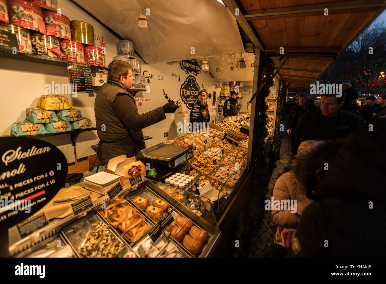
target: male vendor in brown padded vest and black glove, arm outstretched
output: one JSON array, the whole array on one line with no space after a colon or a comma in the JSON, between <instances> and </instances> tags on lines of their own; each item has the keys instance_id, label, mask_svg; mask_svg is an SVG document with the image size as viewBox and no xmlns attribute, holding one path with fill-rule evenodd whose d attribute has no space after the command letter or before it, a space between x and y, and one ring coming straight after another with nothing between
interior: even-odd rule
<instances>
[{"instance_id":1,"label":"male vendor in brown padded vest and black glove, arm outstretched","mask_svg":"<svg viewBox=\"0 0 386 284\"><path fill-rule=\"evenodd\" d=\"M166 113L174 113L182 102L172 100L162 107L139 114L132 91L132 66L126 61L114 60L108 65L107 82L95 97L95 120L100 139L98 158L101 163L126 154L137 155L146 148L142 128L160 122Z\"/></svg>"}]
</instances>

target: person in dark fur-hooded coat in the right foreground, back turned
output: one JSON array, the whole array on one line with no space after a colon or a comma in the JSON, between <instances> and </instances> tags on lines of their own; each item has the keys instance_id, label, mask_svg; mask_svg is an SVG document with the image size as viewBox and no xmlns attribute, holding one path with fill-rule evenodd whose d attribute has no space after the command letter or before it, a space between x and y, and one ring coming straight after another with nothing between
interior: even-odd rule
<instances>
[{"instance_id":1,"label":"person in dark fur-hooded coat in the right foreground, back turned","mask_svg":"<svg viewBox=\"0 0 386 284\"><path fill-rule=\"evenodd\" d=\"M308 172L305 177L313 182L306 195L314 202L303 211L288 257L386 254L386 160L380 155L385 144L386 117L369 119L325 160L328 170L314 167ZM371 186L364 168L372 173ZM296 178L302 169L295 172Z\"/></svg>"}]
</instances>

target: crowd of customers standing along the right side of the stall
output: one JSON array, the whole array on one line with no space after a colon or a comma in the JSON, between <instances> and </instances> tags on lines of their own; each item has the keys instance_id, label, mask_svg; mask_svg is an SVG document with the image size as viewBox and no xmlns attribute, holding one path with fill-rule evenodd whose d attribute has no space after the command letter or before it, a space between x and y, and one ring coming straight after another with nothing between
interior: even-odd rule
<instances>
[{"instance_id":1,"label":"crowd of customers standing along the right side of the stall","mask_svg":"<svg viewBox=\"0 0 386 284\"><path fill-rule=\"evenodd\" d=\"M273 200L278 225L266 257L376 257L386 252L383 157L386 95L357 104L357 91L320 102L302 92L286 107L292 138L288 170L276 181ZM293 204L291 203L291 204Z\"/></svg>"}]
</instances>

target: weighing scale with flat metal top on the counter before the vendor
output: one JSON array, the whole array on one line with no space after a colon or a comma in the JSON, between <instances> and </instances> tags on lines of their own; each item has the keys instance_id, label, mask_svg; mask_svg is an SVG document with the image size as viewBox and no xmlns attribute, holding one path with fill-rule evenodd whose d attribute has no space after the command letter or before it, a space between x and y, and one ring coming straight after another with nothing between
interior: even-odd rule
<instances>
[{"instance_id":1,"label":"weighing scale with flat metal top on the counter before the vendor","mask_svg":"<svg viewBox=\"0 0 386 284\"><path fill-rule=\"evenodd\" d=\"M184 147L162 142L150 148L142 149L135 158L141 160L145 165L150 163L150 168L155 168L157 175L147 176L148 179L163 182L165 178L175 172L188 173L189 167L186 162L193 158L193 145ZM147 172L148 169L146 174Z\"/></svg>"}]
</instances>

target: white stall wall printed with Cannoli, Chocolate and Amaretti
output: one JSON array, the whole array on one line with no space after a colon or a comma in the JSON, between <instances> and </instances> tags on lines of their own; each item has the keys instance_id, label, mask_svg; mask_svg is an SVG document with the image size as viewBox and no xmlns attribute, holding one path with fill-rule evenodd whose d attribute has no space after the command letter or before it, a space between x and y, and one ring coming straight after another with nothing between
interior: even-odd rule
<instances>
[{"instance_id":1,"label":"white stall wall printed with Cannoli, Chocolate and Amaretti","mask_svg":"<svg viewBox=\"0 0 386 284\"><path fill-rule=\"evenodd\" d=\"M58 7L61 9L62 14L68 16L70 20L82 20L93 25L95 46L106 46L105 59L107 66L108 63L112 61L113 56L118 54L117 44L119 39L68 0L58 0ZM142 73L144 73L145 76L150 76L148 78L150 81L146 83L146 85L150 86L150 92L139 92L135 96L136 100L138 100L137 107L139 113L144 113L166 104L167 100L164 99L162 89L165 89L165 92L172 99L179 99L180 87L188 75L185 71L181 70L178 62L151 65L144 65L143 61L141 63ZM178 77L176 77L177 75ZM178 78L181 78L181 81L179 81ZM15 121L25 119L25 110L29 107L36 107L39 96L45 94L46 84L51 84L52 81L55 84L69 83L68 73L65 67L15 60L12 59L12 54L10 54L10 58L1 59L0 80L2 87L0 98L2 105L2 112L0 112L0 135L9 135L12 124ZM217 92L217 102L215 107L213 107L216 111L210 111L211 120L215 120L221 91L221 88L215 90L215 83L221 82L216 82L206 73L199 74L196 80L200 88L202 88L201 84L203 83L208 92L212 94L213 91ZM62 95L69 99L72 107L81 110L82 116L90 118L91 123L95 126L95 93L78 93L77 97L74 98L71 97L71 95ZM141 102L140 99L147 100ZM141 103L141 105L139 103ZM208 99L208 104L209 109L211 109L212 99ZM144 135L153 137L153 139L146 141L146 146L156 145L157 143L166 141L166 139L172 139L178 136L177 123L183 122L184 119L189 121L189 114L190 110L183 104L176 113L166 114L164 121L145 128L143 130ZM168 138L164 138L165 132L168 132ZM41 139L56 145L63 151L68 163L74 162L74 148L71 144L69 134ZM91 149L91 145L97 144L98 141L96 131L81 133L76 141L77 158L95 154Z\"/></svg>"}]
</instances>

